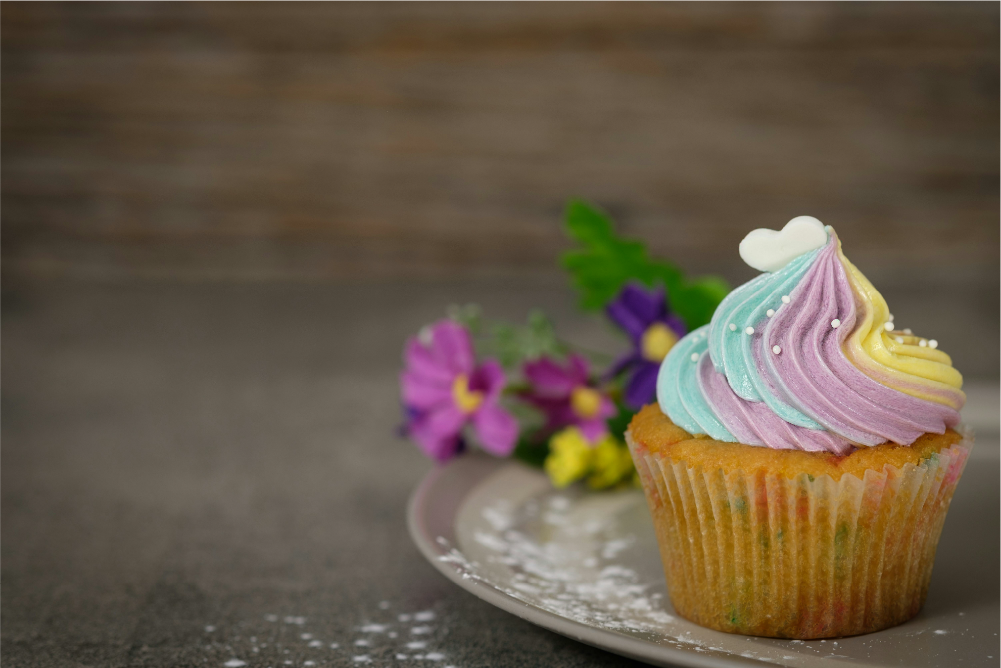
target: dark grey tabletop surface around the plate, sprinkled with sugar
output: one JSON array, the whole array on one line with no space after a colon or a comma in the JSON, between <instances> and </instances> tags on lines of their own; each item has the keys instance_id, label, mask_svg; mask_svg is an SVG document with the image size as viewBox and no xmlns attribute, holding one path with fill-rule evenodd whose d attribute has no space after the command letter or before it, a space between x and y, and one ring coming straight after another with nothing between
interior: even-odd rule
<instances>
[{"instance_id":1,"label":"dark grey tabletop surface around the plate, sprinkled with sugar","mask_svg":"<svg viewBox=\"0 0 1001 668\"><path fill-rule=\"evenodd\" d=\"M558 288L8 284L0 666L398 665L397 651L440 652L441 667L638 665L492 608L410 543L405 502L431 465L394 436L401 344L473 298L496 316L544 306L576 342L614 343ZM993 513L989 531L990 461L978 475L994 486L956 501ZM996 546L987 533L969 555L985 591ZM398 621L417 611L434 619Z\"/></svg>"}]
</instances>

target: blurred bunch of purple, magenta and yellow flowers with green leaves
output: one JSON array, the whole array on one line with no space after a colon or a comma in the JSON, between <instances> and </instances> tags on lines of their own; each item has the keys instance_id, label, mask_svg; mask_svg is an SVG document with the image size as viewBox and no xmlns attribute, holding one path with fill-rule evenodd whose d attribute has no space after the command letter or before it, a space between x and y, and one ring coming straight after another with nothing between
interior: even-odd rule
<instances>
[{"instance_id":1,"label":"blurred bunch of purple, magenta and yellow flowers with green leaves","mask_svg":"<svg viewBox=\"0 0 1001 668\"><path fill-rule=\"evenodd\" d=\"M604 311L629 350L598 369L604 356L560 339L540 311L514 325L484 321L474 304L452 306L406 342L400 432L435 460L475 446L544 468L556 487L636 484L626 428L654 401L668 352L709 322L729 286L716 276L686 279L583 201L570 202L565 225L580 247L561 264L581 307Z\"/></svg>"}]
</instances>

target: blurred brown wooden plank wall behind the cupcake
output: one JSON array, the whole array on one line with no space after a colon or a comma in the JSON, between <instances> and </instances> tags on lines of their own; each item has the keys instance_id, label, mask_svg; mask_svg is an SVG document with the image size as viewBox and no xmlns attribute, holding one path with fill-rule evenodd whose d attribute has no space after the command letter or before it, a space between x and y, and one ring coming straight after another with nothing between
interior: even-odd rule
<instances>
[{"instance_id":1,"label":"blurred brown wooden plank wall behind the cupcake","mask_svg":"<svg viewBox=\"0 0 1001 668\"><path fill-rule=\"evenodd\" d=\"M998 14L4 3L0 267L555 281L582 196L734 281L749 229L813 214L881 287L993 314Z\"/></svg>"}]
</instances>

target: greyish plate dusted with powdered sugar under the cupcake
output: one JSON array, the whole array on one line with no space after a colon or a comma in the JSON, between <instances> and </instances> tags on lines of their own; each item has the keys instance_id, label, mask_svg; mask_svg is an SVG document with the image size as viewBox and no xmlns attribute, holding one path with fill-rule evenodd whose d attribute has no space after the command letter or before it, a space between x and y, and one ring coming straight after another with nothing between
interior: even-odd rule
<instances>
[{"instance_id":1,"label":"greyish plate dusted with powdered sugar under the cupcake","mask_svg":"<svg viewBox=\"0 0 1001 668\"><path fill-rule=\"evenodd\" d=\"M997 459L974 459L985 445L974 450L957 491L957 501L967 493L976 503L953 503L943 532L953 549L940 544L922 612L892 629L836 641L732 635L675 615L638 490L555 491L522 464L467 455L428 474L410 498L407 520L423 555L463 589L557 633L659 666L997 666L996 547L971 562L954 545L981 552L997 545ZM982 469L971 475L985 464L986 478ZM986 520L976 513L982 498L993 504ZM989 591L962 581L983 577L970 572L983 560L993 577L984 583Z\"/></svg>"}]
</instances>

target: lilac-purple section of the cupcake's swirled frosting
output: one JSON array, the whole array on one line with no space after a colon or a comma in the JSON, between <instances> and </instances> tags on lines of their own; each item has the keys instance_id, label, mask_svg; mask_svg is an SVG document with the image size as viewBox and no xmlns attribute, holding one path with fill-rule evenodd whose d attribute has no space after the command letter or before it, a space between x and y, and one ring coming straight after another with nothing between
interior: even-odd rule
<instances>
[{"instance_id":1,"label":"lilac-purple section of the cupcake's swirled frosting","mask_svg":"<svg viewBox=\"0 0 1001 668\"><path fill-rule=\"evenodd\" d=\"M703 356L696 371L699 390L738 441L847 454L855 444L909 445L922 434L942 434L959 423L955 409L882 385L845 356L842 345L855 326L857 305L833 231L789 296L772 317L753 324L754 367L773 397L825 429L792 425L765 403L742 399L710 356ZM841 320L838 327L831 324L835 318ZM773 351L776 346L779 353Z\"/></svg>"}]
</instances>

